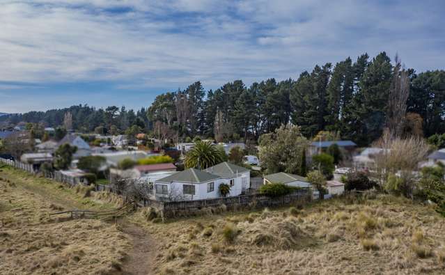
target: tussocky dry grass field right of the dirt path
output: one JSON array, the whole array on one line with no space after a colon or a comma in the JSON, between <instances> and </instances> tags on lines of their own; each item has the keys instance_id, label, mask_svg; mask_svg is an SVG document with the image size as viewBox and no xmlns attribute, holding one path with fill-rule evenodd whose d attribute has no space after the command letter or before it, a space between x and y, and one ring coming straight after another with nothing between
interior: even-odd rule
<instances>
[{"instance_id":1,"label":"tussocky dry grass field right of the dirt path","mask_svg":"<svg viewBox=\"0 0 445 275\"><path fill-rule=\"evenodd\" d=\"M136 213L132 220L163 243L156 269L161 274L442 274L445 269L444 218L393 196L334 199L298 213L289 207L157 224Z\"/></svg>"}]
</instances>

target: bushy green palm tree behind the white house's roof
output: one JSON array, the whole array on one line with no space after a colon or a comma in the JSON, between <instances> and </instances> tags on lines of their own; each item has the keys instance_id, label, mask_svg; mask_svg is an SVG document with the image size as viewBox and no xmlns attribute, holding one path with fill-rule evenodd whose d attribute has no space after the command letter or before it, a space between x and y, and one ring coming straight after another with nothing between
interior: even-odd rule
<instances>
[{"instance_id":1,"label":"bushy green palm tree behind the white house's roof","mask_svg":"<svg viewBox=\"0 0 445 275\"><path fill-rule=\"evenodd\" d=\"M206 141L196 141L185 156L185 168L205 169L223 162L217 146Z\"/></svg>"}]
</instances>

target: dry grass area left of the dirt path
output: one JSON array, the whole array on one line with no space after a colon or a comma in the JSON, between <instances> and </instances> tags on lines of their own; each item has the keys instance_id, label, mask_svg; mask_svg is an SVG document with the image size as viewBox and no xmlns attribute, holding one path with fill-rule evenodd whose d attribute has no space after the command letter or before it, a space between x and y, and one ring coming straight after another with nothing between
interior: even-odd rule
<instances>
[{"instance_id":1,"label":"dry grass area left of the dirt path","mask_svg":"<svg viewBox=\"0 0 445 275\"><path fill-rule=\"evenodd\" d=\"M88 191L76 193L42 179L35 183L25 173L2 170L1 274L111 274L120 269L130 242L116 226L48 216L74 207L104 210L107 203L84 198Z\"/></svg>"}]
</instances>

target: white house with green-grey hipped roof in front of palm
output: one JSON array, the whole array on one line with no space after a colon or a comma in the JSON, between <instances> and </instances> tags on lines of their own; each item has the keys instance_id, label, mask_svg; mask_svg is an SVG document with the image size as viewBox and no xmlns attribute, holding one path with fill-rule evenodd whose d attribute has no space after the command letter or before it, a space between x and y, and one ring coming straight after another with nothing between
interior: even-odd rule
<instances>
[{"instance_id":1,"label":"white house with green-grey hipped roof in front of palm","mask_svg":"<svg viewBox=\"0 0 445 275\"><path fill-rule=\"evenodd\" d=\"M210 171L213 171L210 173ZM223 162L201 171L189 168L155 181L155 198L171 201L195 201L220 198L219 185L230 185L228 196L239 196L250 185L250 171Z\"/></svg>"}]
</instances>

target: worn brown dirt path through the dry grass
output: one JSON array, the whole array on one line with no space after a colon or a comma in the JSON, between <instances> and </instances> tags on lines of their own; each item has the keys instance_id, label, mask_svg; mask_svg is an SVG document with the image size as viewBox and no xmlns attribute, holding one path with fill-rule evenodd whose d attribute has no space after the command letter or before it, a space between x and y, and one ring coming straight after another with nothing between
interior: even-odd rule
<instances>
[{"instance_id":1,"label":"worn brown dirt path through the dry grass","mask_svg":"<svg viewBox=\"0 0 445 275\"><path fill-rule=\"evenodd\" d=\"M120 226L123 233L130 235L133 248L128 253L128 259L122 267L123 275L154 274L153 260L155 259L155 242L143 228L121 220Z\"/></svg>"}]
</instances>

